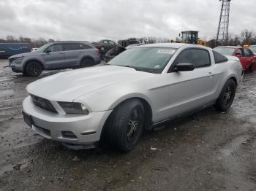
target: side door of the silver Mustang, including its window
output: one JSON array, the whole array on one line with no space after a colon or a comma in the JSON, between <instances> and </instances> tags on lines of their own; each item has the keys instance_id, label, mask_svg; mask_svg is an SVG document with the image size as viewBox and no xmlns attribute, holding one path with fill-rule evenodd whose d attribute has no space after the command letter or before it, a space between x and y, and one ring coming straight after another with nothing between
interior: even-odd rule
<instances>
[{"instance_id":1,"label":"side door of the silver Mustang, including its window","mask_svg":"<svg viewBox=\"0 0 256 191\"><path fill-rule=\"evenodd\" d=\"M201 48L183 50L171 67L192 63L193 71L170 72L170 117L189 112L214 100L214 73L210 52Z\"/></svg>"}]
</instances>

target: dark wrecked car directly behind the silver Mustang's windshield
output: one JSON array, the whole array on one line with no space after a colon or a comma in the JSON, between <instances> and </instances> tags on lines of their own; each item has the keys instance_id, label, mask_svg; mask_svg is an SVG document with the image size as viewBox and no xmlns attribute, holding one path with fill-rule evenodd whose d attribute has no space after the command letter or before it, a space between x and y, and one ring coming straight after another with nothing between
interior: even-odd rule
<instances>
[{"instance_id":1,"label":"dark wrecked car directly behind the silver Mustang's windshield","mask_svg":"<svg viewBox=\"0 0 256 191\"><path fill-rule=\"evenodd\" d=\"M127 47L129 48L129 46L132 46L134 44L139 44L139 43L140 42L133 39L119 40L118 43L106 53L105 62L108 63L108 61L115 58L118 54L120 54L121 52L124 52L124 50L127 50Z\"/></svg>"}]
</instances>

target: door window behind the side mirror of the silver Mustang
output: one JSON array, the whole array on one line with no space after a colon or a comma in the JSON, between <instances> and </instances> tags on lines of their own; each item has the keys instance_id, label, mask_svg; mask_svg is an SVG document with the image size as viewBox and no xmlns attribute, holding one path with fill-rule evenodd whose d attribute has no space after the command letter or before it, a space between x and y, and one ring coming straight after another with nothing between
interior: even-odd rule
<instances>
[{"instance_id":1,"label":"door window behind the side mirror of the silver Mustang","mask_svg":"<svg viewBox=\"0 0 256 191\"><path fill-rule=\"evenodd\" d=\"M211 66L211 58L207 50L187 49L177 56L174 65L178 63L192 63L195 68L201 68Z\"/></svg>"}]
</instances>

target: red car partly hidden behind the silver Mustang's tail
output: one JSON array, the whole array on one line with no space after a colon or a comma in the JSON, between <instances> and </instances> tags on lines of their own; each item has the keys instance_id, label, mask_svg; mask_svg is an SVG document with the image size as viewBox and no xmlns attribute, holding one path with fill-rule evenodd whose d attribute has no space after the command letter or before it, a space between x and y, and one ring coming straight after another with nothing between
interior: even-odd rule
<instances>
[{"instance_id":1,"label":"red car partly hidden behind the silver Mustang's tail","mask_svg":"<svg viewBox=\"0 0 256 191\"><path fill-rule=\"evenodd\" d=\"M233 55L240 59L243 69L246 71L256 70L256 56L247 47L216 47L214 48L222 55Z\"/></svg>"}]
</instances>

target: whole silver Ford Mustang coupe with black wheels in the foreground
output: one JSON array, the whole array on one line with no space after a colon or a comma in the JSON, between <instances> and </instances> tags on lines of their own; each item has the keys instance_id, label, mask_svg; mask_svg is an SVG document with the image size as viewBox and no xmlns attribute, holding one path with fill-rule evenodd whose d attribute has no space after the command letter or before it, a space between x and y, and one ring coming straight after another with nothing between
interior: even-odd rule
<instances>
[{"instance_id":1,"label":"whole silver Ford Mustang coupe with black wheels in the foreground","mask_svg":"<svg viewBox=\"0 0 256 191\"><path fill-rule=\"evenodd\" d=\"M147 44L108 65L65 71L26 87L24 120L67 147L110 143L127 152L145 130L208 106L230 108L242 77L229 60L193 44Z\"/></svg>"}]
</instances>

